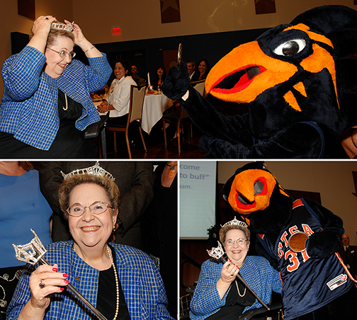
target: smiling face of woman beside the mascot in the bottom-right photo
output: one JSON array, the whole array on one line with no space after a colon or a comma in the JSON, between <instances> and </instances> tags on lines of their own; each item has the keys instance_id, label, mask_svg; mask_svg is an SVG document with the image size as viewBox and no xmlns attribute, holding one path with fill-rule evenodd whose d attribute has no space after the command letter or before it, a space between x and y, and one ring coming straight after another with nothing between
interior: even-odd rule
<instances>
[{"instance_id":1,"label":"smiling face of woman beside the mascot in the bottom-right photo","mask_svg":"<svg viewBox=\"0 0 357 320\"><path fill-rule=\"evenodd\" d=\"M242 244L238 244L239 241L243 240ZM228 241L234 241L232 245L227 244ZM238 243L237 243L238 242ZM231 229L227 231L225 238L225 251L229 260L238 266L244 263L246 254L248 253L249 242L246 241L246 236L242 230Z\"/></svg>"}]
</instances>

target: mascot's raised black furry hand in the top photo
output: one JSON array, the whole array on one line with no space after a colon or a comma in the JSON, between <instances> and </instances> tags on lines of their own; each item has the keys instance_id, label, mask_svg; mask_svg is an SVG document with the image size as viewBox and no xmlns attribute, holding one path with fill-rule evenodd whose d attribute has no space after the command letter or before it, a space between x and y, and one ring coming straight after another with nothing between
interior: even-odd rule
<instances>
[{"instance_id":1,"label":"mascot's raised black furry hand in the top photo","mask_svg":"<svg viewBox=\"0 0 357 320\"><path fill-rule=\"evenodd\" d=\"M179 100L188 91L190 86L187 64L186 62L181 62L179 67L172 67L170 69L162 85L162 92L172 100Z\"/></svg>"}]
</instances>

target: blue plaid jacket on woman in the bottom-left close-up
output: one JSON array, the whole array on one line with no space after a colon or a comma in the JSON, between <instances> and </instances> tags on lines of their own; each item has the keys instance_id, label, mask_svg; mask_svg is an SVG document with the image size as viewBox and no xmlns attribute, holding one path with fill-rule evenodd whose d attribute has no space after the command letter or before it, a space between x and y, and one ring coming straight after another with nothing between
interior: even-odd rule
<instances>
[{"instance_id":1,"label":"blue plaid jacket on woman in the bottom-left close-up","mask_svg":"<svg viewBox=\"0 0 357 320\"><path fill-rule=\"evenodd\" d=\"M81 260L72 245L73 241L62 241L46 246L45 259L51 264L57 263L59 272L69 274L67 280L96 306L99 271ZM130 319L173 319L166 310L166 292L159 270L152 259L130 246L111 246L115 248L118 275ZM28 283L33 270L33 266L26 265L8 306L7 320L18 319L18 315L30 299ZM52 295L50 307L45 314L45 320L49 319L94 320L96 316L89 314L69 290L64 290L60 294Z\"/></svg>"}]
</instances>

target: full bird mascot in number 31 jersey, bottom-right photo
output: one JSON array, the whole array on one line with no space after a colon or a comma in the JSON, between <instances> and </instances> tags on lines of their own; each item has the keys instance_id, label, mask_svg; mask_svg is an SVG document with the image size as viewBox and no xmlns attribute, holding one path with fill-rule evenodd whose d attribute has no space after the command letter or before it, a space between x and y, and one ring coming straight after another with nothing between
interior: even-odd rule
<instances>
[{"instance_id":1,"label":"full bird mascot in number 31 jersey, bottom-right photo","mask_svg":"<svg viewBox=\"0 0 357 320\"><path fill-rule=\"evenodd\" d=\"M337 249L342 220L309 199L292 198L263 162L237 169L223 197L256 232L256 251L278 268L284 319L356 319L356 280Z\"/></svg>"}]
</instances>

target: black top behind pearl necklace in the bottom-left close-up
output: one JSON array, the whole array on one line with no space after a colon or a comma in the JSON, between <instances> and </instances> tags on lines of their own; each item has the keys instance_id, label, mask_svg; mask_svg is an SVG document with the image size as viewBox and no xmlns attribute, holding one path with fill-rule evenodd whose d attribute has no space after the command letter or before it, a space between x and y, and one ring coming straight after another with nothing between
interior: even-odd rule
<instances>
[{"instance_id":1,"label":"black top behind pearl necklace in the bottom-left close-up","mask_svg":"<svg viewBox=\"0 0 357 320\"><path fill-rule=\"evenodd\" d=\"M115 268L118 267L116 265L115 259L115 251L110 246L113 261L115 261ZM119 275L118 275L119 276ZM124 293L122 287L119 282L119 313L117 319L119 320L130 320L128 307L125 302ZM116 284L115 284L115 275L113 270L113 265L108 270L99 271L99 280L98 280L98 296L96 309L98 309L103 316L106 316L106 319L111 320L115 316L116 309Z\"/></svg>"}]
</instances>

